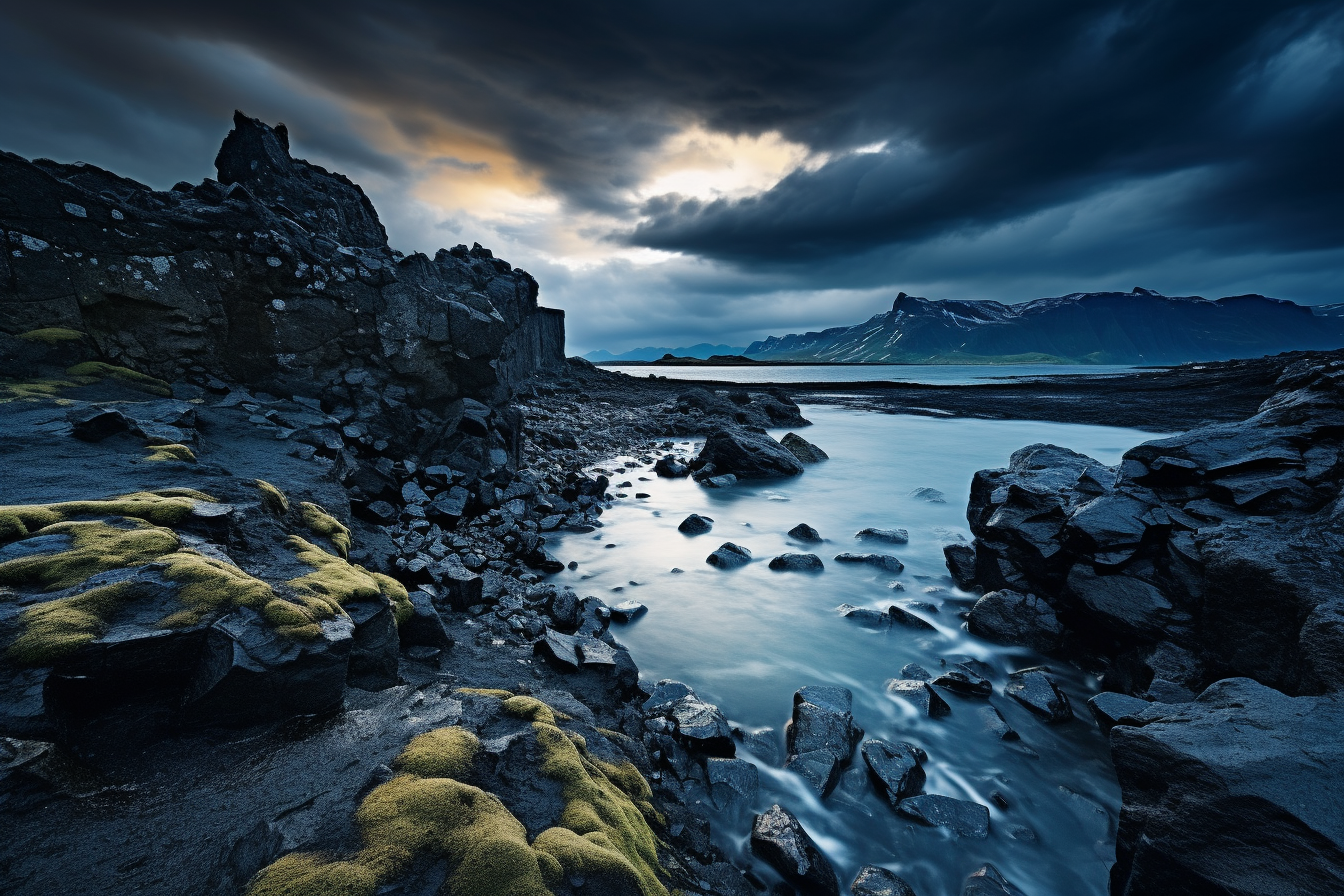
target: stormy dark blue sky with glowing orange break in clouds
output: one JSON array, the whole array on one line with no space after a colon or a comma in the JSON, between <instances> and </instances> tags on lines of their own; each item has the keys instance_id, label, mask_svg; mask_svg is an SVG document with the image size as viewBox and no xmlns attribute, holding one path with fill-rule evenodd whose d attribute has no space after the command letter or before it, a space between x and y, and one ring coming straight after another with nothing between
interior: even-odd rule
<instances>
[{"instance_id":1,"label":"stormy dark blue sky with glowing orange break in clouds","mask_svg":"<svg viewBox=\"0 0 1344 896\"><path fill-rule=\"evenodd\" d=\"M1344 301L1344 3L0 0L0 149L167 189L234 109L571 353L898 292Z\"/></svg>"}]
</instances>

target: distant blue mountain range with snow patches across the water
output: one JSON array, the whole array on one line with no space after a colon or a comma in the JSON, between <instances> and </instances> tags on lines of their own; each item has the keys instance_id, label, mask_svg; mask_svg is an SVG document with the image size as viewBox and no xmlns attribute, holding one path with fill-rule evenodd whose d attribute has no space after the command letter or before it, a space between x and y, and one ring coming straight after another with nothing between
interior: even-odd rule
<instances>
[{"instance_id":1,"label":"distant blue mountain range with snow patches across the water","mask_svg":"<svg viewBox=\"0 0 1344 896\"><path fill-rule=\"evenodd\" d=\"M1341 305L1136 287L1021 305L900 293L890 312L863 324L771 336L743 353L761 361L1181 364L1340 347Z\"/></svg>"}]
</instances>

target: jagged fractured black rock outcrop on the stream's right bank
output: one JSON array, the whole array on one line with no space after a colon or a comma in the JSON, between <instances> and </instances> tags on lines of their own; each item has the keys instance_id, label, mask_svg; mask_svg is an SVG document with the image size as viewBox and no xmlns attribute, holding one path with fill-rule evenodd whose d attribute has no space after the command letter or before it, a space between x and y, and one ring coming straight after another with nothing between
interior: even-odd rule
<instances>
[{"instance_id":1,"label":"jagged fractured black rock outcrop on the stream's right bank","mask_svg":"<svg viewBox=\"0 0 1344 896\"><path fill-rule=\"evenodd\" d=\"M1249 420L1146 442L1117 467L1019 450L972 484L974 583L1048 602L1075 649L1109 658L1111 689L1339 689L1341 386L1339 355L1296 361Z\"/></svg>"}]
</instances>

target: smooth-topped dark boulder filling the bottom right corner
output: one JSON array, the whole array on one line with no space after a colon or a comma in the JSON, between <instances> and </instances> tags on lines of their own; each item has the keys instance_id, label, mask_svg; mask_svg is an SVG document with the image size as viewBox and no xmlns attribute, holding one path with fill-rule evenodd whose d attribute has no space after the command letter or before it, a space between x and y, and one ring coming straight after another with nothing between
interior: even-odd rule
<instances>
[{"instance_id":1,"label":"smooth-topped dark boulder filling the bottom right corner","mask_svg":"<svg viewBox=\"0 0 1344 896\"><path fill-rule=\"evenodd\" d=\"M1110 733L1125 799L1113 893L1344 891L1337 697L1231 678L1154 716Z\"/></svg>"}]
</instances>

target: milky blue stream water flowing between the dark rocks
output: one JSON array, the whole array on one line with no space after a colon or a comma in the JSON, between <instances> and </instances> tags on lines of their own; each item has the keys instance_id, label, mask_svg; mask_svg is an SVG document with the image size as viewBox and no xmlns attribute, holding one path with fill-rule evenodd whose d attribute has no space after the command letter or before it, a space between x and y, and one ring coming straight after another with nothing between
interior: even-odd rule
<instances>
[{"instance_id":1,"label":"milky blue stream water flowing between the dark rocks","mask_svg":"<svg viewBox=\"0 0 1344 896\"><path fill-rule=\"evenodd\" d=\"M1007 673L1050 661L965 631L957 614L970 607L974 595L953 586L942 547L969 541L965 508L972 474L1005 465L1017 447L1054 442L1114 463L1128 447L1157 434L821 406L805 406L804 415L814 426L801 434L831 459L793 480L712 490L689 480L659 480L634 458L606 465L612 492L629 497L603 514L597 532L551 539L558 557L578 562L577 570L554 580L581 596L645 603L648 613L634 622L613 623L641 676L650 684L660 678L689 684L742 728L773 728L781 760L793 692L802 685L840 685L853 692L855 720L867 736L906 740L929 754L925 793L989 807L989 838L958 840L898 815L872 793L857 752L836 791L818 801L793 772L739 750L761 772L761 795L751 810L778 802L798 815L835 865L844 892L862 865L875 864L895 870L921 896L958 896L966 875L992 861L1035 896L1102 896L1114 861L1120 790L1106 740L1086 705L1097 682L1051 664L1075 712L1060 725L1046 725L1005 697ZM689 441L676 445L698 449ZM625 472L618 472L621 461L628 463ZM919 488L941 490L946 502L911 497ZM636 500L638 492L649 497ZM692 512L712 517L714 531L677 532ZM810 524L827 541L792 543L786 532L797 523ZM910 543L860 543L853 535L864 527L909 529ZM749 548L753 563L734 571L706 564L724 541ZM816 575L769 570L770 557L785 551L818 553L827 568ZM892 575L835 563L841 551L894 553L906 568ZM874 631L835 613L841 603L884 610L911 600L937 606L935 613L915 610L935 631ZM1003 742L984 729L977 712L982 699L943 692L952 713L925 719L884 692L886 680L899 677L907 662L937 676L945 664L965 658L995 669L989 703L1020 740ZM991 801L992 791L1007 798L1007 810ZM750 857L749 833L750 811L715 819L716 838L735 861L754 864L770 879Z\"/></svg>"}]
</instances>

